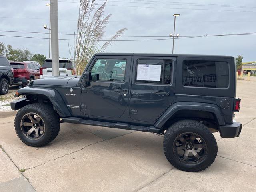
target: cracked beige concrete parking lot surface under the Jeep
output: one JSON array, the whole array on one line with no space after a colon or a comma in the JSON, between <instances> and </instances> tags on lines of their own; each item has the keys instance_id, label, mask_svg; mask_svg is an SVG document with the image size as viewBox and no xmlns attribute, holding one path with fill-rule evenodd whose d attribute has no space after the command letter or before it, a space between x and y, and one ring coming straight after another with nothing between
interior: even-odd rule
<instances>
[{"instance_id":1,"label":"cracked beige concrete parking lot surface under the Jeep","mask_svg":"<svg viewBox=\"0 0 256 192\"><path fill-rule=\"evenodd\" d=\"M214 133L218 156L198 173L175 169L157 134L63 123L53 142L32 148L16 136L14 116L0 118L0 191L256 191L255 87L256 77L238 81L242 133Z\"/></svg>"}]
</instances>

